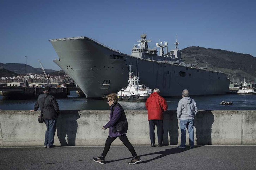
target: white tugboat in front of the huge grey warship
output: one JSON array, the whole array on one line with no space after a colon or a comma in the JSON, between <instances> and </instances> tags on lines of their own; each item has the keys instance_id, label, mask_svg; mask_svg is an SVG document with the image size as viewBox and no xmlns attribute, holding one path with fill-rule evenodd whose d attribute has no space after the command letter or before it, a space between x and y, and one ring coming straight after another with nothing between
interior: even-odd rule
<instances>
[{"instance_id":1,"label":"white tugboat in front of the huge grey warship","mask_svg":"<svg viewBox=\"0 0 256 170\"><path fill-rule=\"evenodd\" d=\"M132 65L129 65L128 86L125 89L121 89L117 93L118 100L119 101L122 101L122 100L143 101L143 100L146 100L151 93L152 93L152 89L145 86L144 84L140 85L139 75L134 76L132 71Z\"/></svg>"}]
</instances>

